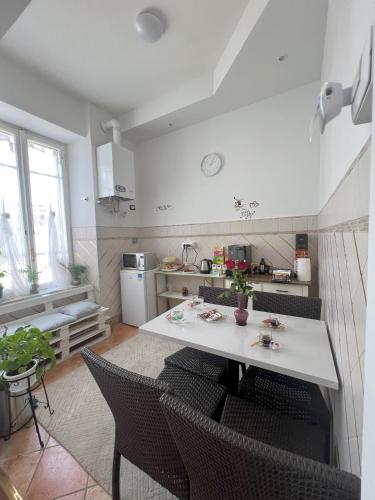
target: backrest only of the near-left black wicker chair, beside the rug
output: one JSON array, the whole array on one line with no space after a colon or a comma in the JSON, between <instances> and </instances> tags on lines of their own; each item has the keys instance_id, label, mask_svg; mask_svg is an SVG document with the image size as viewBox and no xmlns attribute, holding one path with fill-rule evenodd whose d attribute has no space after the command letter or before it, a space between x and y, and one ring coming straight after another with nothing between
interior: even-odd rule
<instances>
[{"instance_id":1,"label":"backrest only of the near-left black wicker chair, beside the rug","mask_svg":"<svg viewBox=\"0 0 375 500\"><path fill-rule=\"evenodd\" d=\"M81 354L115 419L115 452L188 498L186 470L159 402L168 384L120 368L87 347Z\"/></svg>"}]
</instances>

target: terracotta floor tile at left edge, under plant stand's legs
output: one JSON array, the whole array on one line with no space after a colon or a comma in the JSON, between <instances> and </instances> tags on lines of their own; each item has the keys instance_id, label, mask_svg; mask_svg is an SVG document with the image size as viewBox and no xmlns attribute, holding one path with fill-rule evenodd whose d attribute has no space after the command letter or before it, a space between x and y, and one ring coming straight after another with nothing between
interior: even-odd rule
<instances>
[{"instance_id":1,"label":"terracotta floor tile at left edge, under plant stand's legs","mask_svg":"<svg viewBox=\"0 0 375 500\"><path fill-rule=\"evenodd\" d=\"M39 429L42 440L46 444L48 433L41 426L39 426ZM34 424L32 424L13 434L9 441L0 441L0 463L7 458L26 455L38 450L40 450L40 444Z\"/></svg>"}]
</instances>

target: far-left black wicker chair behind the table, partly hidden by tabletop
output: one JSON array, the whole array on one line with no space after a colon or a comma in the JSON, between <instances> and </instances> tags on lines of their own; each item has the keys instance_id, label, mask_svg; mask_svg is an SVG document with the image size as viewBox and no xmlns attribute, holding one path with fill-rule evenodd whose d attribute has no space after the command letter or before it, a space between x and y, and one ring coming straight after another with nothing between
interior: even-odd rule
<instances>
[{"instance_id":1,"label":"far-left black wicker chair behind the table, partly hidden by tabletop","mask_svg":"<svg viewBox=\"0 0 375 500\"><path fill-rule=\"evenodd\" d=\"M237 307L237 295L222 296L228 292L227 288L218 288L211 286L200 286L199 296L203 297L205 302L218 304L222 306ZM247 305L247 304L246 304ZM228 360L221 356L216 356L207 352L185 347L174 354L165 358L166 365L177 366L183 370L189 370L192 373L207 377L215 382L225 383L228 375ZM237 363L236 363L237 364ZM238 365L237 365L238 366ZM240 363L242 374L246 371L246 365Z\"/></svg>"}]
</instances>

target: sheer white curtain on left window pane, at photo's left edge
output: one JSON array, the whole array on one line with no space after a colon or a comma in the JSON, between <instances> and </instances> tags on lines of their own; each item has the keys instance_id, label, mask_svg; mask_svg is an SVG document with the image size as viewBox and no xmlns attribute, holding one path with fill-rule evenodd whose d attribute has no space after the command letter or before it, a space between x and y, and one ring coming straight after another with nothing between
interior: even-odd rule
<instances>
[{"instance_id":1,"label":"sheer white curtain on left window pane, at photo's left edge","mask_svg":"<svg viewBox=\"0 0 375 500\"><path fill-rule=\"evenodd\" d=\"M0 216L0 269L5 268L7 272L5 297L28 293L25 275L20 271L23 267L24 262L11 227L10 215L4 212Z\"/></svg>"}]
</instances>

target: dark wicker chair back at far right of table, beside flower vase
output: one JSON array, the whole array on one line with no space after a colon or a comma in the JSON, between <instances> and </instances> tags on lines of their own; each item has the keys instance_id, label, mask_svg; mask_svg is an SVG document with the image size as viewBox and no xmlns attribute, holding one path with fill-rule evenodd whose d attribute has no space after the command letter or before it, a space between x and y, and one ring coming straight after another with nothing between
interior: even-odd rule
<instances>
[{"instance_id":1,"label":"dark wicker chair back at far right of table, beside flower vase","mask_svg":"<svg viewBox=\"0 0 375 500\"><path fill-rule=\"evenodd\" d=\"M281 293L255 292L253 308L273 314L320 319L322 299Z\"/></svg>"}]
</instances>

